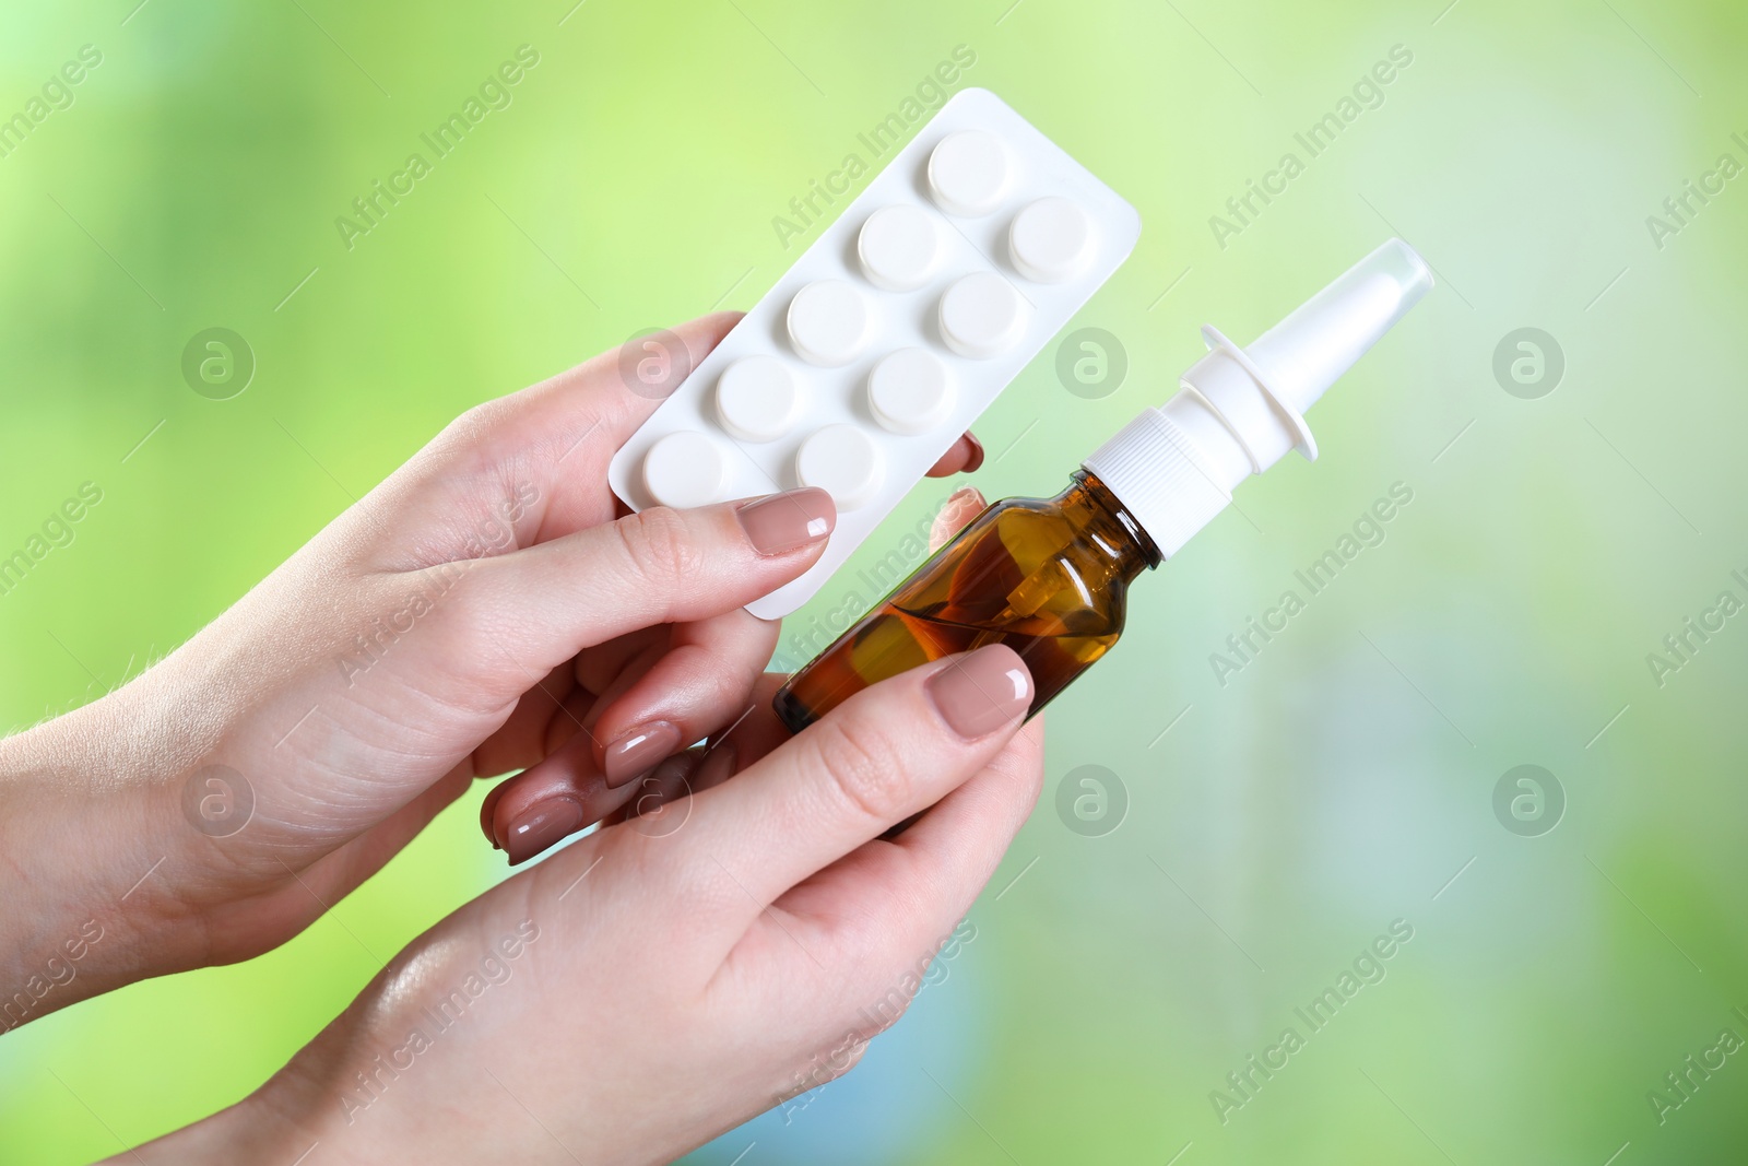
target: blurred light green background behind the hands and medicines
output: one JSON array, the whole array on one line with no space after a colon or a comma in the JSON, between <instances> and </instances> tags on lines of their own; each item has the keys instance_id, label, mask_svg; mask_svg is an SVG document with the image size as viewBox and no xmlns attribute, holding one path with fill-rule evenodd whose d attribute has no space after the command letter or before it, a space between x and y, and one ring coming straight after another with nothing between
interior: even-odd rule
<instances>
[{"instance_id":1,"label":"blurred light green background behind the hands and medicines","mask_svg":"<svg viewBox=\"0 0 1748 1166\"><path fill-rule=\"evenodd\" d=\"M1661 685L1647 656L1748 600L1748 180L1704 178L1748 164L1743 5L135 2L0 12L0 117L101 56L0 157L0 551L101 489L0 594L0 722L138 673L467 406L753 304L801 252L773 217L965 45L954 87L1002 94L1145 224L1073 325L1119 337L1127 376L1075 393L1054 346L1033 362L979 425L991 498L1059 489L1204 322L1248 341L1391 234L1440 281L1311 414L1323 460L1138 584L1122 645L1051 710L1045 797L946 981L862 1070L696 1159L1741 1157L1739 1058L1662 1121L1647 1094L1748 1037L1748 621ZM348 248L336 217L519 45L512 103ZM1294 135L1395 45L1411 63L1309 157ZM1285 152L1304 173L1217 238ZM1722 192L1676 220L1689 180ZM212 327L255 360L227 400L182 376ZM1507 360L1542 374L1502 381L1519 329L1545 336ZM1412 502L1384 542L1222 685L1210 654L1393 482ZM1540 816L1530 787L1496 813L1524 764ZM0 1161L100 1157L252 1091L502 878L475 811L281 951L0 1038ZM1384 979L1311 1031L1295 1009L1397 920ZM1287 1026L1304 1047L1238 1093Z\"/></svg>"}]
</instances>

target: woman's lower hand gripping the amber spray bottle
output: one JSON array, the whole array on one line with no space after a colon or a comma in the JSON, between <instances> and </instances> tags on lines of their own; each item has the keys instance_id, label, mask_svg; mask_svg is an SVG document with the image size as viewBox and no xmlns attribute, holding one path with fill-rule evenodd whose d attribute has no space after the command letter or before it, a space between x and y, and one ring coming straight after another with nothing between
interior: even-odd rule
<instances>
[{"instance_id":1,"label":"woman's lower hand gripping the amber spray bottle","mask_svg":"<svg viewBox=\"0 0 1748 1166\"><path fill-rule=\"evenodd\" d=\"M794 739L780 680L664 764L690 797L467 904L259 1093L142 1159L666 1163L855 1065L1037 801L1031 678L984 647Z\"/></svg>"}]
</instances>

